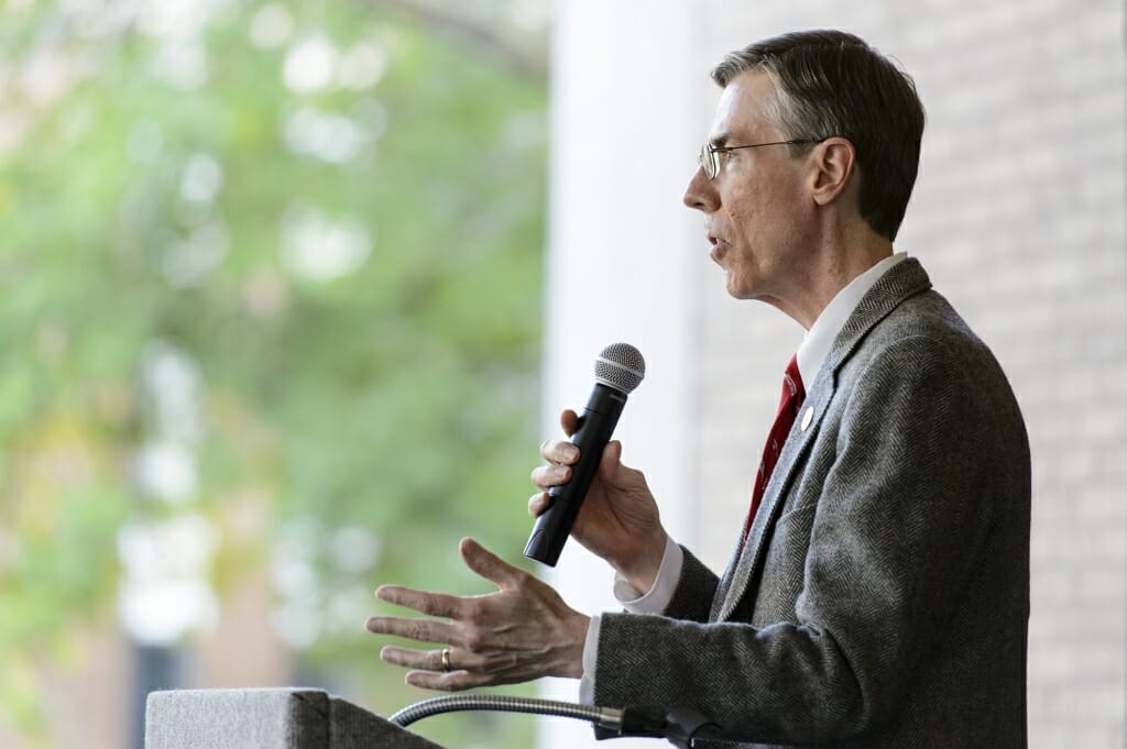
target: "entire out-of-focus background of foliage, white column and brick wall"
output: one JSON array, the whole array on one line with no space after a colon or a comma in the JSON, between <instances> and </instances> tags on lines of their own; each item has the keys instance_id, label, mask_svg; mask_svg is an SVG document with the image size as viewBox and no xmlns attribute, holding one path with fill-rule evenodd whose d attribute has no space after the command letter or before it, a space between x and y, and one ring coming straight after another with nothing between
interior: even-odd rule
<instances>
[{"instance_id":1,"label":"entire out-of-focus background of foliage, white column and brick wall","mask_svg":"<svg viewBox=\"0 0 1127 749\"><path fill-rule=\"evenodd\" d=\"M0 2L0 746L140 747L154 688L429 696L379 661L372 590L488 590L465 535L522 559L536 446L614 340L649 364L624 460L722 567L801 330L725 296L678 200L710 68L818 26L915 77L898 244L1027 416L1030 746L1124 747L1115 0ZM615 607L575 544L548 577Z\"/></svg>"}]
</instances>

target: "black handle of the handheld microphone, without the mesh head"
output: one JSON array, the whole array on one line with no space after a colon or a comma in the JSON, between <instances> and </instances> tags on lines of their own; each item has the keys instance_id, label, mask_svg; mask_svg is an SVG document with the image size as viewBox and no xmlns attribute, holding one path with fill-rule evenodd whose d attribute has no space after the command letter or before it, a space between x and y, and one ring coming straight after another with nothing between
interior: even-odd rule
<instances>
[{"instance_id":1,"label":"black handle of the handheld microphone, without the mesh head","mask_svg":"<svg viewBox=\"0 0 1127 749\"><path fill-rule=\"evenodd\" d=\"M552 502L536 518L524 547L529 559L556 567L625 402L624 393L603 383L596 383L591 391L587 408L579 417L579 428L571 435L571 444L579 448L579 460L571 465L571 479L548 492Z\"/></svg>"}]
</instances>

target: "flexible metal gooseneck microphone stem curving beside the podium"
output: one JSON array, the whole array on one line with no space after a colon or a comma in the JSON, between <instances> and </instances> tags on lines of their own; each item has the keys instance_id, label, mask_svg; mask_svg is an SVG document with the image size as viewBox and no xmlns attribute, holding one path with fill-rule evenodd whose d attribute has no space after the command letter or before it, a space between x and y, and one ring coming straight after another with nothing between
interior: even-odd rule
<instances>
[{"instance_id":1,"label":"flexible metal gooseneck microphone stem curving beside the podium","mask_svg":"<svg viewBox=\"0 0 1127 749\"><path fill-rule=\"evenodd\" d=\"M677 708L662 714L656 711L633 707L619 710L508 695L432 697L403 707L388 720L400 728L406 728L424 717L462 711L495 711L570 717L587 721L602 729L602 734L596 731L596 737L600 740L622 737L658 738L667 739L680 749L691 749L695 739L704 738L702 731L712 735L719 729L711 720L689 708Z\"/></svg>"}]
</instances>

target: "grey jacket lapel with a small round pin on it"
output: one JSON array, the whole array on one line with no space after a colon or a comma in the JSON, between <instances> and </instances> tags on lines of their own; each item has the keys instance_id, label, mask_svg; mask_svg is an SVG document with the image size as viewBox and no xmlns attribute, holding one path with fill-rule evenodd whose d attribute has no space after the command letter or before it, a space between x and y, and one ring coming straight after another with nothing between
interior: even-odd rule
<instances>
[{"instance_id":1,"label":"grey jacket lapel with a small round pin on it","mask_svg":"<svg viewBox=\"0 0 1127 749\"><path fill-rule=\"evenodd\" d=\"M885 319L900 302L930 287L931 280L920 262L914 258L907 258L880 277L845 321L783 444L779 463L771 475L771 481L767 482L747 540L728 562L728 568L720 579L716 598L712 600L711 621L728 619L747 591L747 586L758 573L775 520L784 503L782 499L789 493L801 457L816 439L822 419L833 401L837 387L837 372L873 326ZM806 428L802 427L804 423Z\"/></svg>"}]
</instances>

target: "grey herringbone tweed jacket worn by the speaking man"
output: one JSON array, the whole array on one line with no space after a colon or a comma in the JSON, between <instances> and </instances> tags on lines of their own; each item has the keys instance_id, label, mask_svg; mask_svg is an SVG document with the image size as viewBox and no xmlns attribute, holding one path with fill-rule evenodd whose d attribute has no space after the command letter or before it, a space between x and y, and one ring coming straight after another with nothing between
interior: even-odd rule
<instances>
[{"instance_id":1,"label":"grey herringbone tweed jacket worn by the speaking man","mask_svg":"<svg viewBox=\"0 0 1127 749\"><path fill-rule=\"evenodd\" d=\"M663 616L603 615L594 702L694 708L717 746L1024 749L1029 521L1010 385L904 260L834 341L724 576L686 550Z\"/></svg>"}]
</instances>

